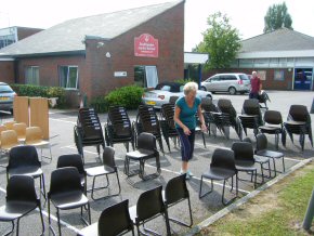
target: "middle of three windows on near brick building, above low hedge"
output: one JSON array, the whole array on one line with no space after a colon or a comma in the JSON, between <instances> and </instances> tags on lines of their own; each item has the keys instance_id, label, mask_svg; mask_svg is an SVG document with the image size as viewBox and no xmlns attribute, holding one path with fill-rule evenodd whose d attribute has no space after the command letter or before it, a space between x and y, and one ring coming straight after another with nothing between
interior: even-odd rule
<instances>
[{"instance_id":1,"label":"middle of three windows on near brick building, above low hedge","mask_svg":"<svg viewBox=\"0 0 314 236\"><path fill-rule=\"evenodd\" d=\"M78 66L60 66L58 77L61 87L78 89Z\"/></svg>"}]
</instances>

